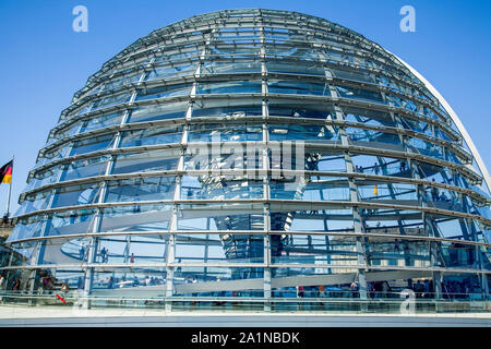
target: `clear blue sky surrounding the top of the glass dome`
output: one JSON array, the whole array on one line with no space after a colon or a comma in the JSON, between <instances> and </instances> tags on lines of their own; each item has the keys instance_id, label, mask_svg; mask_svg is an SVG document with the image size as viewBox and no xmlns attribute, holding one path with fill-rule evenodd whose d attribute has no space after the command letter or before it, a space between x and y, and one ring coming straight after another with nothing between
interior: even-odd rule
<instances>
[{"instance_id":1,"label":"clear blue sky surrounding the top of the glass dome","mask_svg":"<svg viewBox=\"0 0 491 349\"><path fill-rule=\"evenodd\" d=\"M88 33L72 31L72 9L79 4L88 9ZM399 29L399 9L405 4L416 9L416 33ZM1 0L0 163L15 154L11 212L49 130L91 74L158 27L230 8L299 11L380 44L440 91L491 167L489 0ZM1 184L1 214L7 192L8 185Z\"/></svg>"}]
</instances>

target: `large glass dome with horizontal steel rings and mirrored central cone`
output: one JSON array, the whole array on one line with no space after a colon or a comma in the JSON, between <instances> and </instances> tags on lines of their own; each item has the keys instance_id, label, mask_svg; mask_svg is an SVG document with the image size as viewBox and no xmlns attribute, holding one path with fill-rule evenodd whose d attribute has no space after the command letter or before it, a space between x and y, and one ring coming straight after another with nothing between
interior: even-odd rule
<instances>
[{"instance_id":1,"label":"large glass dome with horizontal steel rings and mirrored central cone","mask_svg":"<svg viewBox=\"0 0 491 349\"><path fill-rule=\"evenodd\" d=\"M379 45L301 13L154 31L61 112L8 240L23 257L3 269L29 292L49 275L169 308L415 285L488 298L484 169L430 89Z\"/></svg>"}]
</instances>

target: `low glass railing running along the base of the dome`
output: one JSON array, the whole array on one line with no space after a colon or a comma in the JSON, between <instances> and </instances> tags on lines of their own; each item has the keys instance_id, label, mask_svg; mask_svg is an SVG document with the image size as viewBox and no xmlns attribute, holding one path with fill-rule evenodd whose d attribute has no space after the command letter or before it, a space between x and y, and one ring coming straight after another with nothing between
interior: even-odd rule
<instances>
[{"instance_id":1,"label":"low glass railing running along the base of the dome","mask_svg":"<svg viewBox=\"0 0 491 349\"><path fill-rule=\"evenodd\" d=\"M403 293L400 293L403 294ZM49 306L71 309L76 315L86 309L153 309L165 312L315 312L315 313L376 313L376 314L436 314L436 313L490 313L491 301L467 299L429 299L395 294L376 294L362 299L356 293L349 297L83 297L75 291L46 291L29 294L26 291L0 293L0 312L4 306ZM476 299L474 299L476 298ZM2 306L3 305L3 306ZM5 308L4 308L5 309Z\"/></svg>"}]
</instances>

